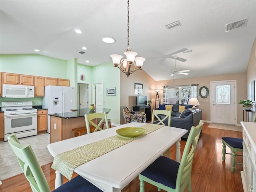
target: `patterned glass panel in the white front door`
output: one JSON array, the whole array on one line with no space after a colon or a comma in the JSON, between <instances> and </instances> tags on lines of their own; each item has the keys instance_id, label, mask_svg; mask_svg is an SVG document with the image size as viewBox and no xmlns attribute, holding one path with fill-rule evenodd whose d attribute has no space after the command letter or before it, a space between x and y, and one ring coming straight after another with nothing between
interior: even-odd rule
<instances>
[{"instance_id":1,"label":"patterned glass panel in the white front door","mask_svg":"<svg viewBox=\"0 0 256 192\"><path fill-rule=\"evenodd\" d=\"M216 86L217 104L230 104L230 85Z\"/></svg>"}]
</instances>

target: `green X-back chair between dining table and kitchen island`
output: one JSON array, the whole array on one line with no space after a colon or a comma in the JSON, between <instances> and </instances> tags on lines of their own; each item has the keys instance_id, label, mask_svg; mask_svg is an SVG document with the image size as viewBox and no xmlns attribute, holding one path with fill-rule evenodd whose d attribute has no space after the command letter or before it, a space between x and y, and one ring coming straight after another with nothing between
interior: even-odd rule
<instances>
[{"instance_id":1,"label":"green X-back chair between dining table and kitchen island","mask_svg":"<svg viewBox=\"0 0 256 192\"><path fill-rule=\"evenodd\" d=\"M95 127L94 132L98 131L98 130L103 130L101 125L102 122L108 122L108 118L107 118L107 114L105 113L92 113L92 114L85 114L84 115L85 118L85 124L86 124L86 129L87 129L87 134L90 133L90 125ZM98 120L100 119L100 122L98 122ZM96 122L96 124L94 123ZM106 128L109 128L108 123L106 123Z\"/></svg>"}]
</instances>

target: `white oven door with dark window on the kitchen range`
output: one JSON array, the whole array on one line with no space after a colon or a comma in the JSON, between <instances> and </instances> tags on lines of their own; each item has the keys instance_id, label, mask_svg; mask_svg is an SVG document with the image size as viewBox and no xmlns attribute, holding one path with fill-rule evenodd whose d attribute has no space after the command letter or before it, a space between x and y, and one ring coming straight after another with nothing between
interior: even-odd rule
<instances>
[{"instance_id":1,"label":"white oven door with dark window on the kitchen range","mask_svg":"<svg viewBox=\"0 0 256 192\"><path fill-rule=\"evenodd\" d=\"M4 134L37 129L37 113L4 116Z\"/></svg>"}]
</instances>

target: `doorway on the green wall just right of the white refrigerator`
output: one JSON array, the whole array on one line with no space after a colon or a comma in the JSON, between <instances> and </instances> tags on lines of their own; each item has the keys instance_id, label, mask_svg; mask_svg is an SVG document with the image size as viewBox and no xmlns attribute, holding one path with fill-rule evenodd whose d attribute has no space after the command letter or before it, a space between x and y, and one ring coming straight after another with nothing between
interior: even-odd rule
<instances>
[{"instance_id":1,"label":"doorway on the green wall just right of the white refrigerator","mask_svg":"<svg viewBox=\"0 0 256 192\"><path fill-rule=\"evenodd\" d=\"M89 84L78 84L78 108L88 108L89 100Z\"/></svg>"}]
</instances>

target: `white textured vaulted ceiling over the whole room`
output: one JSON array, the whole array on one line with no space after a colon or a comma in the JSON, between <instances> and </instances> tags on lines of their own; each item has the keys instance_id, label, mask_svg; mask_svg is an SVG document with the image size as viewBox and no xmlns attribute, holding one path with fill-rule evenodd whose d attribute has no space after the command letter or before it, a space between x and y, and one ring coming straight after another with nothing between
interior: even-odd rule
<instances>
[{"instance_id":1,"label":"white textured vaulted ceiling over the whole room","mask_svg":"<svg viewBox=\"0 0 256 192\"><path fill-rule=\"evenodd\" d=\"M1 0L0 9L0 54L78 58L95 66L127 48L126 0ZM142 69L154 80L246 72L256 37L255 9L255 0L130 0L130 47L146 58ZM245 27L226 32L226 24L245 18ZM181 26L165 27L177 20ZM116 42L104 43L104 36ZM170 77L171 53L183 48L192 52L175 54L186 59L176 60L176 69L190 72Z\"/></svg>"}]
</instances>

